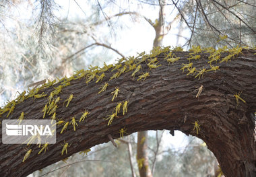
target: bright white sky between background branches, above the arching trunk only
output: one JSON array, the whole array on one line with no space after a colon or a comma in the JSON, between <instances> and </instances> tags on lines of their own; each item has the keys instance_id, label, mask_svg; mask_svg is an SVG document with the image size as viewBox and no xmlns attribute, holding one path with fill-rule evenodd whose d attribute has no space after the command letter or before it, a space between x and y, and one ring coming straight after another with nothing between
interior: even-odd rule
<instances>
[{"instance_id":1,"label":"bright white sky between background branches, above the arching trunk only","mask_svg":"<svg viewBox=\"0 0 256 177\"><path fill-rule=\"evenodd\" d=\"M72 19L75 17L86 17L86 15L89 16L90 13L92 13L92 11L89 9L89 6L87 5L87 1L77 0L76 2L79 4L81 9L73 0L57 0L57 3L59 3L59 5L62 6L60 14L62 16L68 17L69 19ZM137 11L137 9L139 9L141 15L144 15L145 17L149 18L150 20L152 20L152 22L154 22L154 20L156 20L156 18L158 17L157 6L155 7L155 9L152 9L152 5L137 5L133 4L133 1L129 1L131 4L125 4L124 2L126 1L120 2L123 11ZM113 5L113 7L111 6L111 8L108 9L106 8L104 9L104 13L106 13L106 15L108 16L120 13L120 8L118 6L119 4ZM166 6L166 19L168 22L171 22L174 19L175 15L177 14L177 12L172 11L172 9L172 6ZM154 28L152 28L152 26L150 26L150 24L146 22L146 20L143 20L143 18L137 19L139 20L139 22L131 22L131 17L129 17L129 15L126 15L122 18L119 18L119 20L122 20L122 22L125 24L125 26L127 26L127 28L117 30L117 33L119 34L117 40L113 40L112 42L110 41L113 48L117 48L117 50L119 50L125 56L136 55L137 52L143 51L150 52L155 37ZM184 29L180 35L184 36L185 38L179 38L179 43L177 44L177 34L179 33L179 29L177 28L178 26L179 20L172 25L172 28L168 35L164 37L164 46L183 45L186 42L185 38L189 38L189 30ZM107 33L106 30L109 29L104 28L102 29L102 32ZM119 55L114 54L113 61L115 61L117 57L120 58Z\"/></svg>"}]
</instances>

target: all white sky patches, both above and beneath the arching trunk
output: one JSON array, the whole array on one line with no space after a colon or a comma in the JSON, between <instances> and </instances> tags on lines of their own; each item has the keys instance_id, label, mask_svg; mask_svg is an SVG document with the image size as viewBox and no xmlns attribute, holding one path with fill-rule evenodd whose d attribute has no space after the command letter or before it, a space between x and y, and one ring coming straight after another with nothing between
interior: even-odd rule
<instances>
[{"instance_id":1,"label":"all white sky patches, both above and beneath the arching trunk","mask_svg":"<svg viewBox=\"0 0 256 177\"><path fill-rule=\"evenodd\" d=\"M70 0L70 1L57 0L56 2L59 3L59 5L61 5L62 7L62 9L59 12L57 12L57 15L59 17L67 17L69 20L77 17L83 18L93 13L92 10L90 9L90 6L87 5L88 1L76 0L76 2L79 4L79 6L82 9L73 0ZM123 1L121 1L121 3L123 3ZM137 11L137 9L139 9L140 13L148 17L149 19L151 19L152 22L154 22L154 20L158 17L158 7L156 7L156 9L152 9L152 6L137 5L137 4L134 5L132 1L130 1L130 3L131 3L130 5L122 4L122 7L126 8L129 6L129 9L127 9L127 11L128 10ZM175 11L173 11L173 13L171 13L171 11L172 11L172 7L170 6L166 7L166 18L169 21L173 20L173 18L176 15ZM111 15L114 15L115 13L119 13L120 9L118 5L116 6L114 5L111 8L104 9L104 12L108 16L111 16ZM169 15L170 13L171 15ZM19 21L24 21L24 22L30 18L31 14L32 14L31 7L29 7L28 5L17 6L13 9L13 13L12 13L12 15L16 16ZM102 19L104 18L102 17ZM152 28L152 26L150 26L150 24L148 24L146 20L143 20L143 18L136 19L139 22L131 22L131 17L127 15L125 17L119 18L119 20L122 20L123 24L125 24L125 28L118 29L116 31L118 35L117 35L117 38L115 38L115 40L111 40L111 38L109 39L111 46L119 50L119 52L121 52L125 56L136 55L137 52L143 52L143 51L146 51L147 53L150 52L150 50L152 49L153 41L155 37L154 28ZM7 24L5 25L11 27L13 26L13 22L14 21L9 20L9 22L7 22ZM168 33L168 35L164 37L164 41L163 41L164 46L179 46L185 43L184 38L179 38L179 43L177 43L177 39L178 39L177 34L179 33L178 26L179 26L179 21L172 25L172 28ZM107 33L108 30L110 29L102 28L102 33ZM189 30L184 29L183 32L180 33L180 35L189 38L189 35L190 35ZM94 48L94 51L97 52L97 47ZM98 50L98 51L102 51L102 50ZM120 58L120 56L117 55L117 53L111 52L111 54L112 53L113 53L113 59L112 61L108 61L108 63L113 63L117 58ZM150 134L154 134L154 132L151 131ZM162 142L164 144L164 147L173 146L175 148L179 148L179 147L184 147L186 145L187 139L183 136L183 133L179 131L175 131L174 137L172 137L172 135L170 135L168 131L166 131L166 133L164 133L164 141Z\"/></svg>"}]
</instances>

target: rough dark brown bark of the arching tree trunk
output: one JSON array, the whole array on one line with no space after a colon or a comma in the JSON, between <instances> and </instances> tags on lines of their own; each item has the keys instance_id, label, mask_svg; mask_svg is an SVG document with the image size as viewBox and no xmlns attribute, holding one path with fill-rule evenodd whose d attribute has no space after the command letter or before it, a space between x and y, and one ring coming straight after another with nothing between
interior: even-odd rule
<instances>
[{"instance_id":1,"label":"rough dark brown bark of the arching tree trunk","mask_svg":"<svg viewBox=\"0 0 256 177\"><path fill-rule=\"evenodd\" d=\"M108 142L108 134L119 137L119 129L126 127L127 133L146 130L179 130L186 135L195 135L203 139L207 147L214 153L225 176L256 176L256 59L255 50L243 50L228 63L218 63L220 70L207 72L203 79L195 79L186 75L181 69L182 63L187 63L188 52L175 52L179 61L173 65L164 61L163 54L158 56L157 69L148 69L146 63L141 63L143 72L150 72L145 81L137 81L131 77L132 71L120 75L117 79L108 81L113 72L106 72L102 82L91 81L88 85L85 78L72 80L71 85L64 87L59 96L61 101L57 108L58 118L69 121L71 116L79 118L82 112L90 111L88 118L78 124L77 130L69 125L67 131L60 134L62 127L57 129L57 143L49 145L44 154L38 155L38 147L32 145L30 157L22 163L26 153L25 145L0 145L0 176L26 176L59 160L69 157L94 145ZM193 66L209 68L208 54ZM227 54L222 53L222 57ZM108 81L105 92L98 94L99 87ZM58 83L57 83L58 85ZM53 85L56 87L57 85ZM204 90L199 99L193 92L195 87L203 85ZM42 90L49 95L53 87ZM111 92L119 87L119 94L112 102ZM236 106L234 94L241 92L241 98L246 103L239 102ZM66 108L63 102L69 94L74 98ZM104 120L112 114L118 102L129 100L127 114L118 114L111 125ZM17 118L21 112L26 113L26 119L42 118L42 108L47 98L29 98L15 106L8 118ZM6 118L8 112L2 114ZM50 117L46 117L50 118ZM193 131L193 122L199 121L200 129L197 135ZM1 131L0 131L1 133ZM61 155L63 141L71 144L68 154Z\"/></svg>"}]
</instances>

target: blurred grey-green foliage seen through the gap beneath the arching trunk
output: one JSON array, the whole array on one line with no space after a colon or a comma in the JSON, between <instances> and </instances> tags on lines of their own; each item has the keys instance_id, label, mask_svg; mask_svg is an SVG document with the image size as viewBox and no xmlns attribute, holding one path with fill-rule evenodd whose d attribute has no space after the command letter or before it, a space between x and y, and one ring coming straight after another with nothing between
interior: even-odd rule
<instances>
[{"instance_id":1,"label":"blurred grey-green foliage seen through the gap beneath the arching trunk","mask_svg":"<svg viewBox=\"0 0 256 177\"><path fill-rule=\"evenodd\" d=\"M163 141L170 141L170 136L164 131ZM158 131L158 135L162 131ZM156 147L156 136L154 131L150 131L148 139L149 149ZM166 135L167 134L167 135ZM139 176L137 169L136 147L137 147L137 135L133 133L130 135L131 145L133 149L133 168L135 168L136 176ZM127 141L127 137L123 138ZM117 140L118 141L118 140ZM118 147L114 147L112 143L104 143L92 148L92 151L88 155L76 153L69 157L67 164L79 162L82 160L100 160L100 161L88 161L80 162L77 164L67 166L64 162L58 162L42 169L42 172L34 172L35 176L40 176L51 170L57 170L51 172L49 176L131 176L131 168L129 164L129 155L127 145L118 141ZM151 150L149 152L150 166L152 166L152 159L154 153ZM154 176L214 176L214 163L215 157L209 149L203 144L203 141L195 137L185 136L185 143L180 147L172 147L170 144L165 147L161 147L158 152L156 163L156 169Z\"/></svg>"}]
</instances>

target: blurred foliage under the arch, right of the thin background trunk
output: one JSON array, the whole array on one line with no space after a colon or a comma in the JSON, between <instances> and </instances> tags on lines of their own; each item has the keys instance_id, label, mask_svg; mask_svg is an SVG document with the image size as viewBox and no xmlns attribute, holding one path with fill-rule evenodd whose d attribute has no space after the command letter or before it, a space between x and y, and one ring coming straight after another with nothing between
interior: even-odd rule
<instances>
[{"instance_id":1,"label":"blurred foliage under the arch, right of the thin background trunk","mask_svg":"<svg viewBox=\"0 0 256 177\"><path fill-rule=\"evenodd\" d=\"M160 147L154 176L203 177L211 174L215 160L213 153L200 139L191 136L186 136L186 139L187 143L184 143L183 147ZM150 137L150 149L156 149L155 141L154 137ZM154 157L154 154L150 151L150 159L152 156Z\"/></svg>"}]
</instances>

